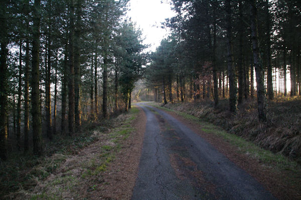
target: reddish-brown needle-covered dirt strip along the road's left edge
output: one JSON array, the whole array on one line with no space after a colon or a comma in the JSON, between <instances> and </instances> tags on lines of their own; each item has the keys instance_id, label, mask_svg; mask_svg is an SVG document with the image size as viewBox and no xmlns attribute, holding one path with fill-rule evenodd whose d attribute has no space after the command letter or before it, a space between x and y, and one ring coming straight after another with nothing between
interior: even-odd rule
<instances>
[{"instance_id":1,"label":"reddish-brown needle-covered dirt strip along the road's left edge","mask_svg":"<svg viewBox=\"0 0 301 200\"><path fill-rule=\"evenodd\" d=\"M122 150L118 152L107 171L103 173L106 183L90 193L91 199L130 199L138 173L146 116L141 108L136 119L132 122L135 127L133 134L122 143Z\"/></svg>"}]
</instances>

